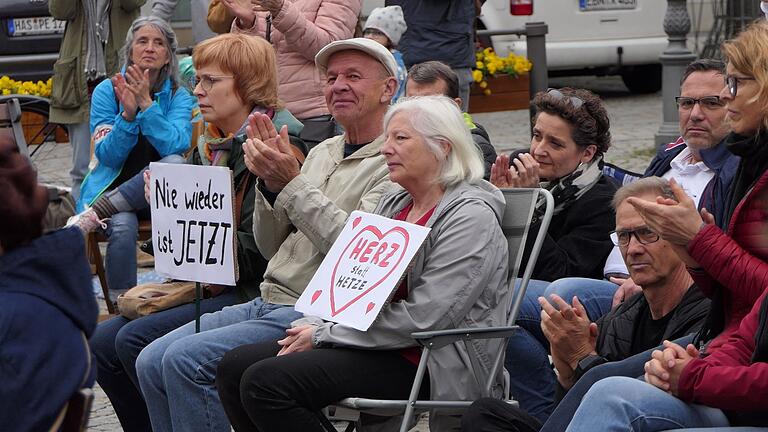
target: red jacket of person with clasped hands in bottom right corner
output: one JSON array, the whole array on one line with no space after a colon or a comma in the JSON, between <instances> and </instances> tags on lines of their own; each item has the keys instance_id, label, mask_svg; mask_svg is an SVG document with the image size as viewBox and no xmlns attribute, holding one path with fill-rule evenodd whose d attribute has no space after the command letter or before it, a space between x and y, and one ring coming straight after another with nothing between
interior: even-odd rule
<instances>
[{"instance_id":1,"label":"red jacket of person with clasped hands in bottom right corner","mask_svg":"<svg viewBox=\"0 0 768 432\"><path fill-rule=\"evenodd\" d=\"M678 383L680 399L728 411L768 412L768 363L752 363L766 295L768 290L725 343L688 363Z\"/></svg>"}]
</instances>

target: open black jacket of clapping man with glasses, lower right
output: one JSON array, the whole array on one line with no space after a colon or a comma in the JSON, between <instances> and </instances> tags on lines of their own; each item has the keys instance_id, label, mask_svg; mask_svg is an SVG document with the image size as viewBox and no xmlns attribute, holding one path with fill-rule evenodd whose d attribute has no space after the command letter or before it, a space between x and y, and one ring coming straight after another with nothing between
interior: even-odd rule
<instances>
[{"instance_id":1,"label":"open black jacket of clapping man with glasses, lower right","mask_svg":"<svg viewBox=\"0 0 768 432\"><path fill-rule=\"evenodd\" d=\"M609 361L623 360L636 354L631 352L635 323L646 307L648 302L640 293L600 318L597 321L597 353ZM664 340L674 340L697 332L704 323L707 311L709 299L696 285L692 285L672 312L672 318L659 344Z\"/></svg>"}]
</instances>

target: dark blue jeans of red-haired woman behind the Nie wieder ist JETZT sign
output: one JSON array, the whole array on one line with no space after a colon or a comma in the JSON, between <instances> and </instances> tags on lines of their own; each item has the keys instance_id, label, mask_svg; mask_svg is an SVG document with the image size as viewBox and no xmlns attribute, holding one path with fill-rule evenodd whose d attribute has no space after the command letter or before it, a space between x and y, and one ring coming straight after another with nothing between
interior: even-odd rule
<instances>
[{"instance_id":1,"label":"dark blue jeans of red-haired woman behind the Nie wieder ist JETZT sign","mask_svg":"<svg viewBox=\"0 0 768 432\"><path fill-rule=\"evenodd\" d=\"M239 302L230 289L203 300L200 312L215 312ZM195 305L190 303L132 321L118 316L96 327L90 344L96 357L97 381L112 402L124 431L152 430L136 378L136 357L150 342L194 319Z\"/></svg>"}]
</instances>

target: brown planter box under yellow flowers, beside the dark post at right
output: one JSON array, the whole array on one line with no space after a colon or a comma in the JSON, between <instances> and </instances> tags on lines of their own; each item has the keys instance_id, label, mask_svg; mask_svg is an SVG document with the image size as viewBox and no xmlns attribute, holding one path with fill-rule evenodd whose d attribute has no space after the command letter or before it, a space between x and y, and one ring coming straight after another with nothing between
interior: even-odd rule
<instances>
[{"instance_id":1,"label":"brown planter box under yellow flowers, beside the dark post at right","mask_svg":"<svg viewBox=\"0 0 768 432\"><path fill-rule=\"evenodd\" d=\"M491 94L486 96L477 83L472 84L469 93L469 112L483 113L526 109L530 106L528 74L512 78L507 75L486 78Z\"/></svg>"}]
</instances>

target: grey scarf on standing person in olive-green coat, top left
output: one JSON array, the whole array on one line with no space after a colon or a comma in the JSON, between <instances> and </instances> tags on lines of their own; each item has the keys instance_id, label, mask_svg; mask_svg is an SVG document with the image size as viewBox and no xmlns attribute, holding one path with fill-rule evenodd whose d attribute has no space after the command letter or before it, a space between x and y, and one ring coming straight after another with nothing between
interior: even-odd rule
<instances>
[{"instance_id":1,"label":"grey scarf on standing person in olive-green coat, top left","mask_svg":"<svg viewBox=\"0 0 768 432\"><path fill-rule=\"evenodd\" d=\"M111 0L82 0L85 11L85 78L98 81L107 76L104 47L109 39Z\"/></svg>"}]
</instances>

